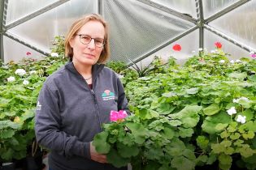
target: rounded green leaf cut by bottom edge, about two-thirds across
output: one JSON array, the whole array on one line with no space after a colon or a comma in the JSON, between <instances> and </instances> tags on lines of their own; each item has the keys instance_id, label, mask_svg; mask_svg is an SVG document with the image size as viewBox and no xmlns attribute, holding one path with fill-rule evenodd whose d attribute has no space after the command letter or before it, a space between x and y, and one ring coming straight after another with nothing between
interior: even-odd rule
<instances>
[{"instance_id":1,"label":"rounded green leaf cut by bottom edge, about two-thirds across","mask_svg":"<svg viewBox=\"0 0 256 170\"><path fill-rule=\"evenodd\" d=\"M177 156L171 160L171 167L177 168L177 170L193 170L195 168L195 163L184 156Z\"/></svg>"}]
</instances>

